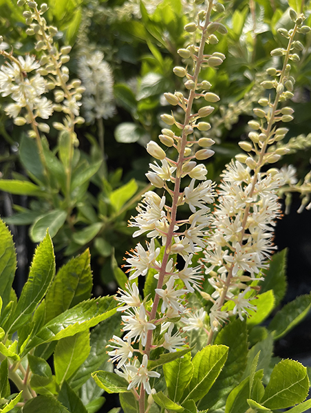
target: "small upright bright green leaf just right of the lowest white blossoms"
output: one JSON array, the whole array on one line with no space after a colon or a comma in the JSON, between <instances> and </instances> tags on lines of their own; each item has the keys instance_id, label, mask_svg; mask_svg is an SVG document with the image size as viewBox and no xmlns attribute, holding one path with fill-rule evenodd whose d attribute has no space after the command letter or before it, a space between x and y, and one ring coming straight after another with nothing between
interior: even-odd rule
<instances>
[{"instance_id":1,"label":"small upright bright green leaf just right of the lowest white blossoms","mask_svg":"<svg viewBox=\"0 0 311 413\"><path fill-rule=\"evenodd\" d=\"M169 397L173 401L180 401L193 374L190 352L184 354L184 356L179 359L164 364L163 371Z\"/></svg>"}]
</instances>

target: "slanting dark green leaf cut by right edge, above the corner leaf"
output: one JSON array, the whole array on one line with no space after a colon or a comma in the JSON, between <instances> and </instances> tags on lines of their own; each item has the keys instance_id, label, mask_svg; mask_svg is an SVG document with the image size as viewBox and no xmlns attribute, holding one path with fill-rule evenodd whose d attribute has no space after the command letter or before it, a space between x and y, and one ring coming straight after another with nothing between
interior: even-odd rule
<instances>
[{"instance_id":1,"label":"slanting dark green leaf cut by right edge, above the corner leaf","mask_svg":"<svg viewBox=\"0 0 311 413\"><path fill-rule=\"evenodd\" d=\"M283 306L268 326L268 330L274 332L274 339L280 339L297 326L309 313L310 308L311 295L301 295Z\"/></svg>"}]
</instances>

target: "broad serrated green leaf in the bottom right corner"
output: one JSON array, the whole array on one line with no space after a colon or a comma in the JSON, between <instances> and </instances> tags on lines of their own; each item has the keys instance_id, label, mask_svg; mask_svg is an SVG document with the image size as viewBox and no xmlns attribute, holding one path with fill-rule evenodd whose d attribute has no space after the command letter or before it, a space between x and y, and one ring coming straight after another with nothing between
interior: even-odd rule
<instances>
[{"instance_id":1,"label":"broad serrated green leaf in the bottom right corner","mask_svg":"<svg viewBox=\"0 0 311 413\"><path fill-rule=\"evenodd\" d=\"M308 396L307 369L294 360L282 360L272 370L261 404L270 409L286 409Z\"/></svg>"}]
</instances>

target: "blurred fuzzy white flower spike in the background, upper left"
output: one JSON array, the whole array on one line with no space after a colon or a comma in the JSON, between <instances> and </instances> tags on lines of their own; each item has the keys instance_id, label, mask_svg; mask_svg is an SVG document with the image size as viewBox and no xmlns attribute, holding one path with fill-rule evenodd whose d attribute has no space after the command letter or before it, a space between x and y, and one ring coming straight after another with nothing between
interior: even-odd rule
<instances>
[{"instance_id":1,"label":"blurred fuzzy white flower spike in the background, upper left","mask_svg":"<svg viewBox=\"0 0 311 413\"><path fill-rule=\"evenodd\" d=\"M83 55L78 59L78 75L85 87L82 102L87 122L94 123L96 119L114 116L114 78L103 53L83 50Z\"/></svg>"}]
</instances>

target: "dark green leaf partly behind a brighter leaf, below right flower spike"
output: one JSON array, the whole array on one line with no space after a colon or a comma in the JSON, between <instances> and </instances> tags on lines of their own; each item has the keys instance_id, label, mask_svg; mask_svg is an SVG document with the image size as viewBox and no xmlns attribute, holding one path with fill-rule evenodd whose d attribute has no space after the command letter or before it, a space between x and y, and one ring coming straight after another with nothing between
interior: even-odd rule
<instances>
[{"instance_id":1,"label":"dark green leaf partly behind a brighter leaf, below right flower spike","mask_svg":"<svg viewBox=\"0 0 311 413\"><path fill-rule=\"evenodd\" d=\"M246 322L236 319L219 331L215 344L228 346L228 359L213 385L213 391L197 402L198 408L220 413L224 410L226 397L239 383L246 369L248 357L248 337Z\"/></svg>"}]
</instances>

